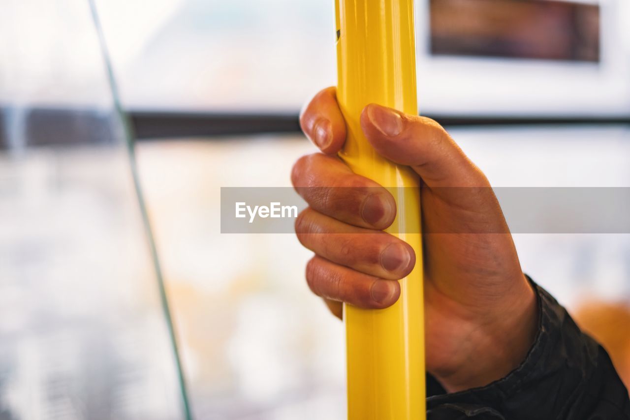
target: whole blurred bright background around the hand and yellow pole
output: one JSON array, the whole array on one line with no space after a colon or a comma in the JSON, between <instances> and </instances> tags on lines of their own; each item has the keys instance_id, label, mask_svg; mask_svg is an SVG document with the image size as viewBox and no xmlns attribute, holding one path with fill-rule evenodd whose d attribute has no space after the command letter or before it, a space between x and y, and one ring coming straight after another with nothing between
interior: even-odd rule
<instances>
[{"instance_id":1,"label":"whole blurred bright background around the hand and yellow pole","mask_svg":"<svg viewBox=\"0 0 630 420\"><path fill-rule=\"evenodd\" d=\"M221 187L289 186L314 151L332 0L2 8L0 420L345 418L309 252L219 218ZM491 184L630 187L627 0L418 0L416 26L421 113ZM630 369L630 236L515 241Z\"/></svg>"}]
</instances>

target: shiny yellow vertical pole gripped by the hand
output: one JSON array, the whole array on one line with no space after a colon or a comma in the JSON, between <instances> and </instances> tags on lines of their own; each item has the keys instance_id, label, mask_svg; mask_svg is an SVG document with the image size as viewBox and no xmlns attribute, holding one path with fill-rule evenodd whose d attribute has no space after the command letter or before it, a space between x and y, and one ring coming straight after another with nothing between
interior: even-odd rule
<instances>
[{"instance_id":1,"label":"shiny yellow vertical pole gripped by the hand","mask_svg":"<svg viewBox=\"0 0 630 420\"><path fill-rule=\"evenodd\" d=\"M389 187L398 214L388 230L416 252L393 306L344 307L348 420L425 419L419 181L377 155L359 124L368 103L418 112L413 0L336 0L336 17L337 98L348 128L340 156L353 172Z\"/></svg>"}]
</instances>

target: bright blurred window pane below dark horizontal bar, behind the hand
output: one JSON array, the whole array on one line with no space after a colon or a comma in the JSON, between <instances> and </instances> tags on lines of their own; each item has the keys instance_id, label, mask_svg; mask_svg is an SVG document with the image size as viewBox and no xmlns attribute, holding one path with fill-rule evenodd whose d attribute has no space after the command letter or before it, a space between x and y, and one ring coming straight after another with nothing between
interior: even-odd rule
<instances>
[{"instance_id":1,"label":"bright blurred window pane below dark horizontal bar, behind the hand","mask_svg":"<svg viewBox=\"0 0 630 420\"><path fill-rule=\"evenodd\" d=\"M630 187L628 127L450 133L496 187ZM343 324L309 291L312 252L294 235L221 234L221 187L289 187L294 161L314 146L294 135L137 149L196 417L345 418ZM630 300L630 235L514 236L524 271L571 311Z\"/></svg>"}]
</instances>

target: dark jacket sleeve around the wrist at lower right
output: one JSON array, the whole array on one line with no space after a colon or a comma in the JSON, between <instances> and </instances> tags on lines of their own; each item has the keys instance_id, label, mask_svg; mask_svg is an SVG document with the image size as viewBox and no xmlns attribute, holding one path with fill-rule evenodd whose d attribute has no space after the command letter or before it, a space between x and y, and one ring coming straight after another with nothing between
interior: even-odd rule
<instances>
[{"instance_id":1,"label":"dark jacket sleeve around the wrist at lower right","mask_svg":"<svg viewBox=\"0 0 630 420\"><path fill-rule=\"evenodd\" d=\"M454 394L445 394L428 377L428 419L630 419L628 392L604 348L583 334L549 293L532 284L539 330L527 358L505 378Z\"/></svg>"}]
</instances>

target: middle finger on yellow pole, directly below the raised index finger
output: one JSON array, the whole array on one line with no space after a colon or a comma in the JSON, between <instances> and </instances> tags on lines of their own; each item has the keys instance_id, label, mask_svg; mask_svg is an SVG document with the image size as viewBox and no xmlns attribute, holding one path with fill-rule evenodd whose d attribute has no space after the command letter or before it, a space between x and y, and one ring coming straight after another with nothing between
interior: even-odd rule
<instances>
[{"instance_id":1,"label":"middle finger on yellow pole, directly below the raised index finger","mask_svg":"<svg viewBox=\"0 0 630 420\"><path fill-rule=\"evenodd\" d=\"M300 158L291 180L309 206L350 225L382 230L396 217L396 202L386 189L355 175L333 156L316 153Z\"/></svg>"}]
</instances>

